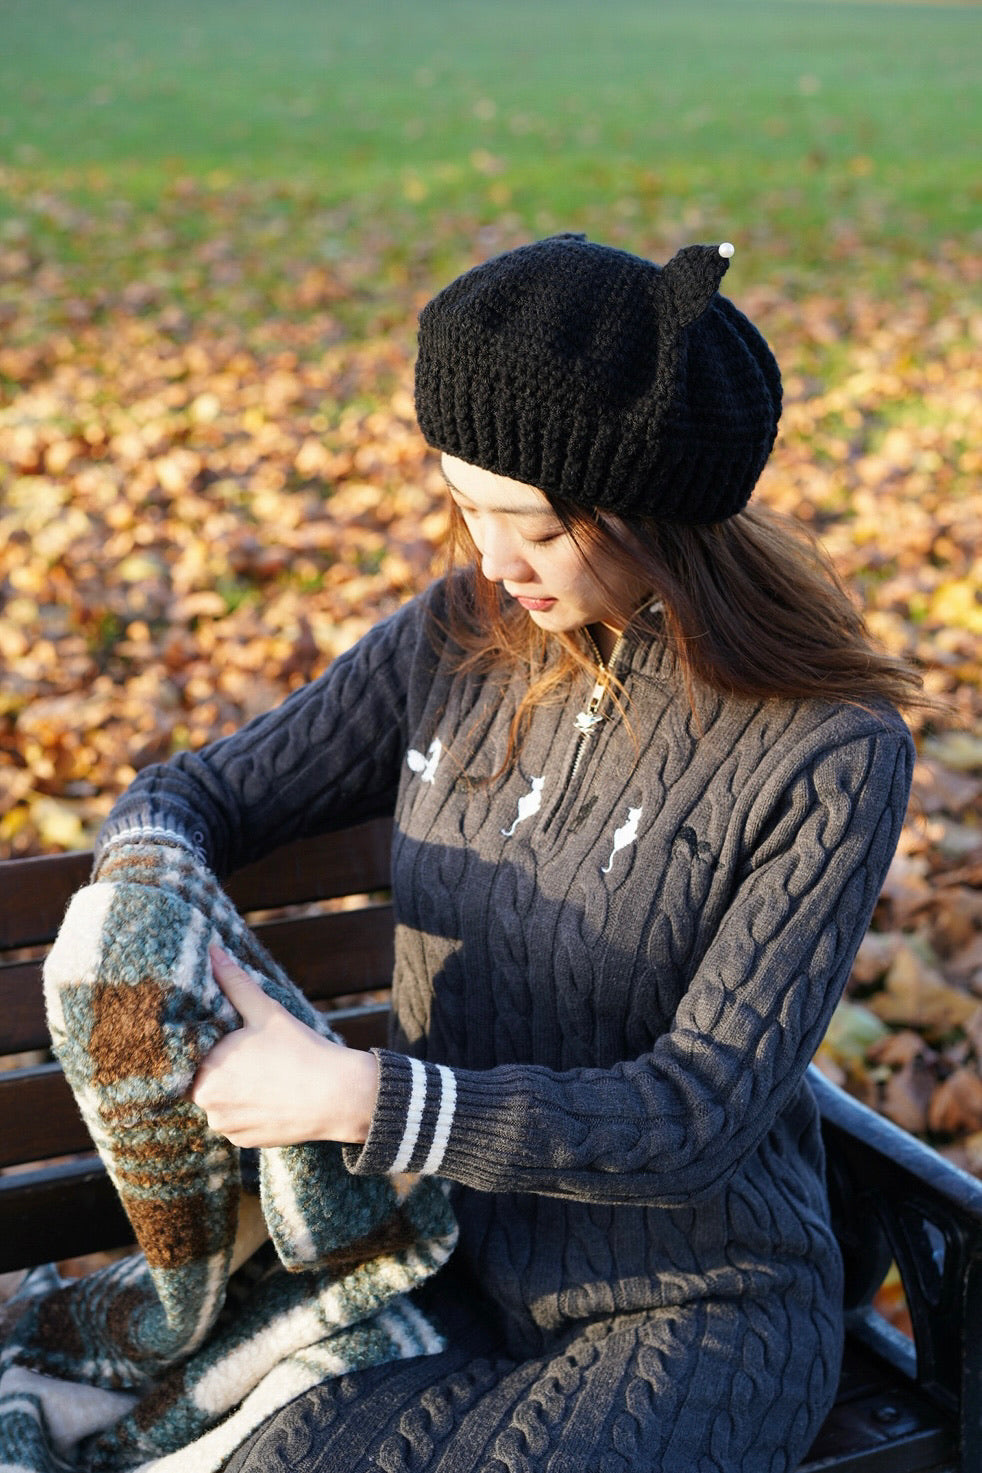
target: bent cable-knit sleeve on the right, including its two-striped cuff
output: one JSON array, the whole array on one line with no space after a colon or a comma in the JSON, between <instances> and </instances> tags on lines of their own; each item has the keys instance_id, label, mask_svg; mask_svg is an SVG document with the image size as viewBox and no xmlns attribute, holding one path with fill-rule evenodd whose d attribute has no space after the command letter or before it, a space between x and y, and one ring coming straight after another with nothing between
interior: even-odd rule
<instances>
[{"instance_id":1,"label":"bent cable-knit sleeve on the right, including its two-striped cuff","mask_svg":"<svg viewBox=\"0 0 982 1473\"><path fill-rule=\"evenodd\" d=\"M717 1192L822 1040L900 835L911 759L907 734L885 728L771 782L749 815L732 901L648 1053L554 1071L383 1050L371 1134L349 1149L349 1168L595 1202L670 1206Z\"/></svg>"}]
</instances>

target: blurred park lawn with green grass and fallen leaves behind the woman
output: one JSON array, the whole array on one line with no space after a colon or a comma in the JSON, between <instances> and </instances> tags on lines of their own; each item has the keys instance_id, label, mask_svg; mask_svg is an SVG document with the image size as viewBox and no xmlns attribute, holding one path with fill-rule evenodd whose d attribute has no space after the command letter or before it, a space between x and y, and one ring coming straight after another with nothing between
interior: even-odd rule
<instances>
[{"instance_id":1,"label":"blurred park lawn with green grass and fallen leaves behind the woman","mask_svg":"<svg viewBox=\"0 0 982 1473\"><path fill-rule=\"evenodd\" d=\"M0 854L88 847L439 570L445 281L732 240L786 382L760 496L948 703L826 1066L982 1170L981 19L0 0Z\"/></svg>"}]
</instances>

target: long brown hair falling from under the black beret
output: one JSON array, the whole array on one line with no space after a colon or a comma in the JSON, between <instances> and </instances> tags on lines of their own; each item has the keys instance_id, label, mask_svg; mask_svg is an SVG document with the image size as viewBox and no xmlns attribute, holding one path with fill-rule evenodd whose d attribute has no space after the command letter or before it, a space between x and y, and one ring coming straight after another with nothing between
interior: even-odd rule
<instances>
[{"instance_id":1,"label":"long brown hair falling from under the black beret","mask_svg":"<svg viewBox=\"0 0 982 1473\"><path fill-rule=\"evenodd\" d=\"M596 567L595 554L604 552L614 577L595 576L612 608L618 573L632 586L640 577L651 588L661 638L696 723L705 691L748 700L842 701L864 710L882 703L936 704L922 694L916 669L875 645L827 554L791 517L751 505L726 521L682 526L601 518L561 502L552 507L590 567ZM449 558L452 567L473 569L467 579L451 579L449 623L464 651L462 667L527 673L506 767L531 709L596 664L573 636L543 633L481 574L453 502ZM654 633L652 617L648 611L637 616Z\"/></svg>"}]
</instances>

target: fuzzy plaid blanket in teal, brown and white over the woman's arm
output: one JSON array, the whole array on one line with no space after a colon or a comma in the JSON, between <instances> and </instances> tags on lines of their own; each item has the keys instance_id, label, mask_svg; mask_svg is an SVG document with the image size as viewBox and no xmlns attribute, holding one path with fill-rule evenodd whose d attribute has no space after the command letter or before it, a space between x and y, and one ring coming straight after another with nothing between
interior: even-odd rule
<instances>
[{"instance_id":1,"label":"fuzzy plaid blanket in teal, brown and white over the woman's arm","mask_svg":"<svg viewBox=\"0 0 982 1473\"><path fill-rule=\"evenodd\" d=\"M186 1099L199 1061L239 1025L213 943L328 1033L165 835L106 851L47 957L52 1043L140 1252L74 1282L37 1270L7 1305L3 1470L209 1473L325 1376L442 1348L406 1298L453 1246L439 1183L400 1198L321 1142L261 1150L255 1196L243 1171L255 1153Z\"/></svg>"}]
</instances>

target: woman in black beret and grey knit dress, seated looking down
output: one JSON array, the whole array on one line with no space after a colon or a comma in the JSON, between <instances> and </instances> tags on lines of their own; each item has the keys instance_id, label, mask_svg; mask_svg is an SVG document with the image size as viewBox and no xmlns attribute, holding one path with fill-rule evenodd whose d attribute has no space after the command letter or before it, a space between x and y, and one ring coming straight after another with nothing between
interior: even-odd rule
<instances>
[{"instance_id":1,"label":"woman in black beret and grey knit dress, seated looking down","mask_svg":"<svg viewBox=\"0 0 982 1473\"><path fill-rule=\"evenodd\" d=\"M392 1047L227 959L193 1097L239 1145L437 1173L437 1357L297 1398L236 1473L776 1473L838 1382L804 1080L894 853L916 679L746 507L777 365L718 284L558 236L424 309L417 409L464 567L280 710L144 772L103 846L219 873L393 813Z\"/></svg>"}]
</instances>

